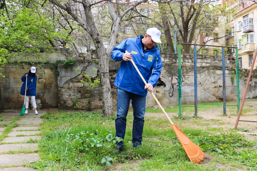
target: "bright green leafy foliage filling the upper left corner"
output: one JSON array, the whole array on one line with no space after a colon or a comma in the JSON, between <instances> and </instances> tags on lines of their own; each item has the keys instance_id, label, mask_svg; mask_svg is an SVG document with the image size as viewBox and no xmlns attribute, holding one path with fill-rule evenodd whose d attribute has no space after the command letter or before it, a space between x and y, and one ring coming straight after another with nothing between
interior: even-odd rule
<instances>
[{"instance_id":1,"label":"bright green leafy foliage filling the upper left corner","mask_svg":"<svg viewBox=\"0 0 257 171\"><path fill-rule=\"evenodd\" d=\"M44 9L40 3L6 0L5 7L0 9L1 67L10 62L23 64L32 59L33 64L43 64L46 58L39 48L52 52L50 42L55 42L56 37L63 39L67 36L68 30L56 32L57 23L49 17L49 9Z\"/></svg>"}]
</instances>

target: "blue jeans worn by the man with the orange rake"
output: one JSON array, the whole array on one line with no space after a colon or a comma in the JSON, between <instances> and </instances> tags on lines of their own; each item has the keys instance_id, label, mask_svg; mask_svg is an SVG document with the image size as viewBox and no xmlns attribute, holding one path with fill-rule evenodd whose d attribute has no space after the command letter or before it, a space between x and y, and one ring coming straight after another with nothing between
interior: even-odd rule
<instances>
[{"instance_id":1,"label":"blue jeans worn by the man with the orange rake","mask_svg":"<svg viewBox=\"0 0 257 171\"><path fill-rule=\"evenodd\" d=\"M137 95L130 93L128 91L117 89L118 99L117 99L117 118L115 120L116 134L115 137L121 137L124 139L126 125L127 125L127 114L129 103L131 100L133 107L133 130L132 130L132 143L133 147L141 145L142 133L144 127L144 114L145 114L145 103L146 96ZM118 147L123 148L124 142L117 143Z\"/></svg>"}]
</instances>

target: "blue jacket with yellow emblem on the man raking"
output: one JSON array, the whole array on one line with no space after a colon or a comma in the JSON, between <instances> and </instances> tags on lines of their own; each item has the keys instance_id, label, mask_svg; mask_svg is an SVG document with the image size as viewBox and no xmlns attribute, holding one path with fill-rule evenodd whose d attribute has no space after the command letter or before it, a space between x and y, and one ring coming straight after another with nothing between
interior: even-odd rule
<instances>
[{"instance_id":1,"label":"blue jacket with yellow emblem on the man raking","mask_svg":"<svg viewBox=\"0 0 257 171\"><path fill-rule=\"evenodd\" d=\"M125 50L132 53L131 56L133 61L144 77L145 81L152 84L153 87L156 86L162 69L160 52L156 46L154 46L152 49L147 49L143 53L143 47L141 44L142 37L144 36L124 40L121 44L113 49L111 57L115 61L121 61L114 85L125 91L146 96L147 89L144 89L145 84L137 73L132 62L123 61L122 59Z\"/></svg>"}]
</instances>

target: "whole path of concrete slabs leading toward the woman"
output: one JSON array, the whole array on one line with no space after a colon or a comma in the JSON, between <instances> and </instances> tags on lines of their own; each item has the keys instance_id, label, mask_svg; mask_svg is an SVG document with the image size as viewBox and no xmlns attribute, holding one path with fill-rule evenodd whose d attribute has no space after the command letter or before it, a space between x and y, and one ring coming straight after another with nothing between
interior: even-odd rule
<instances>
[{"instance_id":1,"label":"whole path of concrete slabs leading toward the woman","mask_svg":"<svg viewBox=\"0 0 257 171\"><path fill-rule=\"evenodd\" d=\"M0 124L8 124L14 117L19 117L21 110L6 110L0 118ZM26 143L28 140L40 139L40 123L43 119L41 115L45 114L44 110L38 110L38 115L34 111L29 111L20 120L15 123L17 127L13 128L5 137L0 141L0 171L31 171L32 168L26 167L25 164L37 162L40 159L37 154L37 143ZM0 127L0 135L6 127Z\"/></svg>"}]
</instances>

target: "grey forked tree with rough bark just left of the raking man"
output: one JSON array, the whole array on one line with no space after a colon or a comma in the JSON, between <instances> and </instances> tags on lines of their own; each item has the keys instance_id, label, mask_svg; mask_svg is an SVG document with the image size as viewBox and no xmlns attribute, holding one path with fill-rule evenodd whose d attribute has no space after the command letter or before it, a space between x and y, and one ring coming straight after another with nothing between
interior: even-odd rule
<instances>
[{"instance_id":1,"label":"grey forked tree with rough bark just left of the raking man","mask_svg":"<svg viewBox=\"0 0 257 171\"><path fill-rule=\"evenodd\" d=\"M147 0L136 1L130 3L129 1L90 1L90 0L68 0L68 1L59 1L59 0L49 0L49 2L55 4L59 8L66 11L71 17L82 27L93 39L97 56L99 57L99 72L100 72L100 87L102 93L103 101L103 116L113 115L113 103L112 103L112 94L109 78L109 59L113 47L116 45L117 37L119 35L119 29L121 27L121 22L123 17L134 7L140 3L144 3ZM92 15L92 8L97 5L105 3L108 7L108 13L111 20L111 33L109 35L109 45L105 48L103 37L99 28L95 23L94 17ZM124 8L126 5L126 8ZM122 8L123 7L123 8ZM79 9L83 8L85 17L83 18L79 15Z\"/></svg>"}]
</instances>

